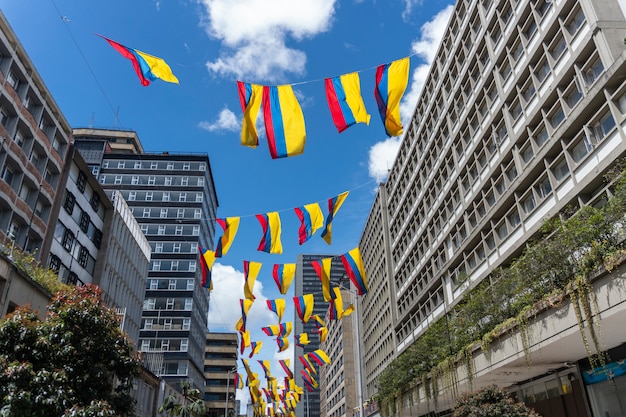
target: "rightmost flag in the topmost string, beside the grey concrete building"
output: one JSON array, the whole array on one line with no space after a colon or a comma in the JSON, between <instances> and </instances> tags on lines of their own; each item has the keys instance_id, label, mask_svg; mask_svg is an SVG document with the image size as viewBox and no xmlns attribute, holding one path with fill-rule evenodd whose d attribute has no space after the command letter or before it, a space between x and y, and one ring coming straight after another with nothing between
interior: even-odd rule
<instances>
[{"instance_id":1,"label":"rightmost flag in the topmost string, beside the grey concrete building","mask_svg":"<svg viewBox=\"0 0 626 417\"><path fill-rule=\"evenodd\" d=\"M409 82L409 65L409 58L406 57L376 68L374 96L389 137L402 134L400 100Z\"/></svg>"}]
</instances>

